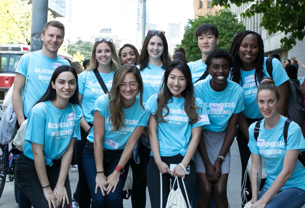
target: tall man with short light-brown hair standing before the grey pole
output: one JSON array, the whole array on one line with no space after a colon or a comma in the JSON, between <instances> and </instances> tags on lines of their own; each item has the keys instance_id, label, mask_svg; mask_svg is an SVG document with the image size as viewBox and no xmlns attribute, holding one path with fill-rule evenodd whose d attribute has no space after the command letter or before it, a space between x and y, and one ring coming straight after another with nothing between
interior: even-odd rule
<instances>
[{"instance_id":1,"label":"tall man with short light-brown hair standing before the grey pole","mask_svg":"<svg viewBox=\"0 0 305 208\"><path fill-rule=\"evenodd\" d=\"M50 78L57 68L55 65L70 65L68 61L57 55L64 36L65 26L59 21L50 21L45 24L41 33L42 49L24 54L20 58L15 71L12 93L12 103L19 126L28 118L30 109L45 93ZM31 78L27 79L27 77ZM25 89L24 94L23 89ZM18 189L18 200L20 208L31 207L30 201L21 189Z\"/></svg>"}]
</instances>

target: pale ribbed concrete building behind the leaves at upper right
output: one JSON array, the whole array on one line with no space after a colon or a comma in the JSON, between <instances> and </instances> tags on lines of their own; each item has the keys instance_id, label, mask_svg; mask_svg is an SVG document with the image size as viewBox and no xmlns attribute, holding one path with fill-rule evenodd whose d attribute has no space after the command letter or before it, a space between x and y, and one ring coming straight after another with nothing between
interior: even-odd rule
<instances>
[{"instance_id":1,"label":"pale ribbed concrete building behind the leaves at upper right","mask_svg":"<svg viewBox=\"0 0 305 208\"><path fill-rule=\"evenodd\" d=\"M239 21L246 26L247 30L255 31L262 36L262 39L264 41L265 56L269 57L272 53L276 52L280 55L282 63L286 59L291 59L292 57L296 57L298 60L305 63L305 53L303 52L305 50L304 41L297 40L296 46L293 47L293 49L291 50L281 48L280 40L282 39L282 37L285 36L285 34L282 32L278 32L269 35L268 31L260 26L263 14L255 14L251 18L242 18L240 16L240 13L245 12L246 9L248 9L251 5L252 3L248 3L242 4L240 7L237 7L233 4L231 5L231 11L238 16ZM305 69L299 65L298 77L303 77L304 73Z\"/></svg>"}]
</instances>

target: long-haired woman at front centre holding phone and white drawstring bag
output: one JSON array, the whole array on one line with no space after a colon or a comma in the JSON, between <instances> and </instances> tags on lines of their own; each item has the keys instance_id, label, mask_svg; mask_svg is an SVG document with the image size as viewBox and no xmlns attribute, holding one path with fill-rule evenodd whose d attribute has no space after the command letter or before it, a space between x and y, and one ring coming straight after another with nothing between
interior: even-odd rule
<instances>
[{"instance_id":1,"label":"long-haired woman at front centre holding phone and white drawstring bag","mask_svg":"<svg viewBox=\"0 0 305 208\"><path fill-rule=\"evenodd\" d=\"M188 65L179 60L172 61L166 67L160 94L152 95L146 104L150 107L148 128L152 147L147 165L151 206L156 208L162 204L165 207L170 193L170 179L173 185L176 176L181 187L181 177L185 180L186 190L181 188L181 191L185 201L189 201L196 180L192 157L203 126L210 122L204 103L194 97Z\"/></svg>"}]
</instances>

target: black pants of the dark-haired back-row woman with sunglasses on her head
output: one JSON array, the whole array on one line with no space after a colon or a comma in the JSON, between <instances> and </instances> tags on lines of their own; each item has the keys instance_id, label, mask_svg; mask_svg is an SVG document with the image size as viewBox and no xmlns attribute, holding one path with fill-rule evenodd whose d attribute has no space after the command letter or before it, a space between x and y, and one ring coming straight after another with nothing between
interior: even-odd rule
<instances>
[{"instance_id":1,"label":"black pants of the dark-haired back-row woman with sunglasses on her head","mask_svg":"<svg viewBox=\"0 0 305 208\"><path fill-rule=\"evenodd\" d=\"M140 162L135 163L131 159L132 171L132 191L131 191L131 204L134 208L145 208L146 206L146 169L149 161L150 149L140 142L138 151Z\"/></svg>"}]
</instances>

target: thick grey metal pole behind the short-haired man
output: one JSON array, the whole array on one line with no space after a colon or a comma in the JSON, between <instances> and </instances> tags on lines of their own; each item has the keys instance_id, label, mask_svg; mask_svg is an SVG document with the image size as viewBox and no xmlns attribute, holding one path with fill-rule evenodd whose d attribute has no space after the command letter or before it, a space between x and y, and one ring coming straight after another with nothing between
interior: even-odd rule
<instances>
[{"instance_id":1,"label":"thick grey metal pole behind the short-haired man","mask_svg":"<svg viewBox=\"0 0 305 208\"><path fill-rule=\"evenodd\" d=\"M42 29L48 19L48 0L32 1L31 51L41 50Z\"/></svg>"}]
</instances>

